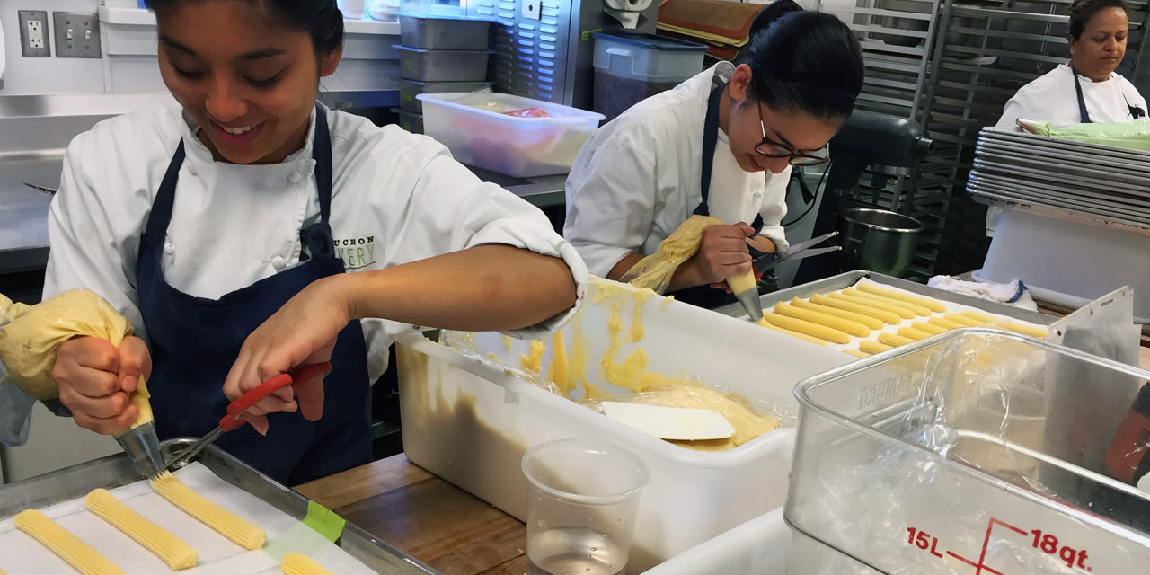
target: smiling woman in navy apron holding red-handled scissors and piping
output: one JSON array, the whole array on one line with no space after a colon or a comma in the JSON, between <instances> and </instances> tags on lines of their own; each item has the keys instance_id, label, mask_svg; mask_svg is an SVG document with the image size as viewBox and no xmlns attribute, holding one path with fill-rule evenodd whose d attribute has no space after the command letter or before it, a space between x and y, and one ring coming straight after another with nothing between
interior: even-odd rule
<instances>
[{"instance_id":1,"label":"smiling woman in navy apron holding red-handled scissors and piping","mask_svg":"<svg viewBox=\"0 0 1150 575\"><path fill-rule=\"evenodd\" d=\"M542 213L430 138L316 105L342 54L335 0L148 3L181 106L77 137L49 215L45 296L95 291L139 336L60 347L78 424L124 429L150 375L161 438L202 435L229 398L330 359L220 439L294 484L369 461L368 385L397 335L569 316L586 270Z\"/></svg>"}]
</instances>

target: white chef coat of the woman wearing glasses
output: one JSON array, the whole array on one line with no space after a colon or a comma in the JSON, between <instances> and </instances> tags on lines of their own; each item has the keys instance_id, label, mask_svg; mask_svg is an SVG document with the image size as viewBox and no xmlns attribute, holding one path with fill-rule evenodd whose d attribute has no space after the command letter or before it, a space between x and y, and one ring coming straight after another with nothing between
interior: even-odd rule
<instances>
[{"instance_id":1,"label":"white chef coat of the woman wearing glasses","mask_svg":"<svg viewBox=\"0 0 1150 575\"><path fill-rule=\"evenodd\" d=\"M713 68L635 105L600 128L580 151L567 177L564 236L588 269L606 276L630 253L654 253L702 200L703 124L712 78L730 79L735 67ZM708 206L724 223L762 215L762 236L780 248L790 167L782 174L743 171L719 130Z\"/></svg>"}]
</instances>

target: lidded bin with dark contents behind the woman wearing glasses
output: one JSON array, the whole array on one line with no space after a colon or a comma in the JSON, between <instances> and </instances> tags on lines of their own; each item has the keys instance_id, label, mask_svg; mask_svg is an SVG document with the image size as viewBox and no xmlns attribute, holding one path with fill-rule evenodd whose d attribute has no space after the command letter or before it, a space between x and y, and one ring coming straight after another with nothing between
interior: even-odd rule
<instances>
[{"instance_id":1,"label":"lidded bin with dark contents behind the woman wearing glasses","mask_svg":"<svg viewBox=\"0 0 1150 575\"><path fill-rule=\"evenodd\" d=\"M637 32L595 33L596 112L613 120L627 108L703 71L707 47Z\"/></svg>"}]
</instances>

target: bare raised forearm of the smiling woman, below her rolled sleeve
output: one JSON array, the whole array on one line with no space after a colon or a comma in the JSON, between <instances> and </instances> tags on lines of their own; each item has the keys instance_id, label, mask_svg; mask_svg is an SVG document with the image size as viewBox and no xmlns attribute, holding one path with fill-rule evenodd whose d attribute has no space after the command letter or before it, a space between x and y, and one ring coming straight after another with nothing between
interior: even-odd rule
<instances>
[{"instance_id":1,"label":"bare raised forearm of the smiling woman, below her rolled sleeve","mask_svg":"<svg viewBox=\"0 0 1150 575\"><path fill-rule=\"evenodd\" d=\"M559 258L483 245L375 271L345 274L352 319L489 331L521 329L575 305L575 279Z\"/></svg>"}]
</instances>

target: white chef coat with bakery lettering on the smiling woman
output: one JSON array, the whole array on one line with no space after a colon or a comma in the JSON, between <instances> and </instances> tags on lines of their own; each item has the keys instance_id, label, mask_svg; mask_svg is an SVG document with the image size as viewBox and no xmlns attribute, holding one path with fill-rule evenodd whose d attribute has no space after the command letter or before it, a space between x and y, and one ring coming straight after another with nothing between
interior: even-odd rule
<instances>
[{"instance_id":1,"label":"white chef coat with bakery lettering on the smiling woman","mask_svg":"<svg viewBox=\"0 0 1150 575\"><path fill-rule=\"evenodd\" d=\"M542 212L481 182L431 138L323 109L331 132L330 224L337 255L348 271L506 244L562 258L582 301L586 267ZM187 159L179 170L163 248L167 282L192 296L217 299L299 262L299 230L320 220L312 175L314 113L305 147L276 164L216 162L193 130L179 107L154 106L100 122L72 140L48 214L46 298L70 289L92 290L147 340L137 307L137 253L181 138ZM518 335L538 337L573 314L568 310ZM415 328L384 320L362 324L368 374L375 381L386 369L388 346Z\"/></svg>"}]
</instances>

